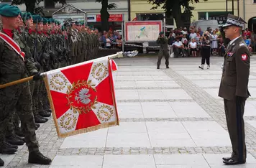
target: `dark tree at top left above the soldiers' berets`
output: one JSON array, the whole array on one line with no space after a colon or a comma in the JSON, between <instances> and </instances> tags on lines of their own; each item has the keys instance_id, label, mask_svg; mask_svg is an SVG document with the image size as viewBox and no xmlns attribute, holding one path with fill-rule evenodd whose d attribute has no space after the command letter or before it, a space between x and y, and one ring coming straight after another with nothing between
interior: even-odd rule
<instances>
[{"instance_id":1,"label":"dark tree at top left above the soldiers' berets","mask_svg":"<svg viewBox=\"0 0 256 168\"><path fill-rule=\"evenodd\" d=\"M42 6L38 7L38 5L40 4L41 1L44 1L44 0L13 0L12 5L25 4L26 11L32 14L40 14L42 13ZM52 1L54 1L55 3L59 2L60 4L63 4L63 5L66 4L65 0L52 0Z\"/></svg>"}]
</instances>

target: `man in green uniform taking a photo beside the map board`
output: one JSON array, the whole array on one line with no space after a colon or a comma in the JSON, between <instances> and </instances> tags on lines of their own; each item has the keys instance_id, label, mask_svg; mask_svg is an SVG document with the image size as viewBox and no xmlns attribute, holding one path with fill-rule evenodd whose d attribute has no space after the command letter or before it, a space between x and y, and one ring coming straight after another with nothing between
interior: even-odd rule
<instances>
[{"instance_id":1,"label":"man in green uniform taking a photo beside the map board","mask_svg":"<svg viewBox=\"0 0 256 168\"><path fill-rule=\"evenodd\" d=\"M160 32L160 36L163 35L163 32ZM163 56L165 57L165 65L166 68L169 68L169 47L168 47L168 38L167 37L158 37L157 44L160 45L160 50L158 52L158 59L157 59L157 69L160 68L161 60Z\"/></svg>"}]
</instances>

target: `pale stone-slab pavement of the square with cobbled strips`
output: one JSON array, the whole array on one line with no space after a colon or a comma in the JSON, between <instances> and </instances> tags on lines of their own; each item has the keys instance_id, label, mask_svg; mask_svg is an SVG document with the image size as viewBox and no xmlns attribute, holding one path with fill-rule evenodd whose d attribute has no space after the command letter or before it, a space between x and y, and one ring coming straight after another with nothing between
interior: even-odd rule
<instances>
[{"instance_id":1,"label":"pale stone-slab pavement of the square with cobbled strips","mask_svg":"<svg viewBox=\"0 0 256 168\"><path fill-rule=\"evenodd\" d=\"M114 74L120 126L58 139L52 118L37 131L40 150L52 165L27 164L27 146L1 155L6 167L219 168L232 148L224 107L218 98L222 57L200 70L200 58L117 59ZM250 97L244 119L247 164L256 167L256 58L252 57ZM229 166L230 167L230 166Z\"/></svg>"}]
</instances>

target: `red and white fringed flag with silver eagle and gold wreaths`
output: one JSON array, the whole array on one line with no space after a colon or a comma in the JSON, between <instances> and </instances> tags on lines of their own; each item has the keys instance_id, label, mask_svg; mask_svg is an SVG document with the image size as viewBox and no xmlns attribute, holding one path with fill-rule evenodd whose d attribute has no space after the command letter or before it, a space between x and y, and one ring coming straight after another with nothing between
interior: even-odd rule
<instances>
[{"instance_id":1,"label":"red and white fringed flag with silver eagle and gold wreaths","mask_svg":"<svg viewBox=\"0 0 256 168\"><path fill-rule=\"evenodd\" d=\"M47 73L45 85L60 138L119 125L113 62L103 57Z\"/></svg>"}]
</instances>

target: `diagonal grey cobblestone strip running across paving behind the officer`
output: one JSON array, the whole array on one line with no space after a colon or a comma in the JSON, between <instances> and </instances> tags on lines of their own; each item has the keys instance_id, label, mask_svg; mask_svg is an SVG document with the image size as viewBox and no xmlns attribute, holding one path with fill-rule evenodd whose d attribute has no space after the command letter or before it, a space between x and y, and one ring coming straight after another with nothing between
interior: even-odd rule
<instances>
[{"instance_id":1,"label":"diagonal grey cobblestone strip running across paving behind the officer","mask_svg":"<svg viewBox=\"0 0 256 168\"><path fill-rule=\"evenodd\" d=\"M206 113L209 114L212 118L214 118L214 121L219 123L225 130L227 130L227 123L224 113L224 106L221 104L221 102L215 98L213 98L209 93L206 93L204 89L199 88L197 85L193 84L190 80L184 78L182 75L179 75L171 68L168 70L163 70L170 78L173 78L173 80L180 85L183 90L186 90L188 95L193 98L196 103L198 103L201 108L206 111ZM244 123L245 125L245 135L246 135L246 142L247 142L247 148L252 148L253 152L255 152L256 149L256 129L251 126L249 123Z\"/></svg>"}]
</instances>

